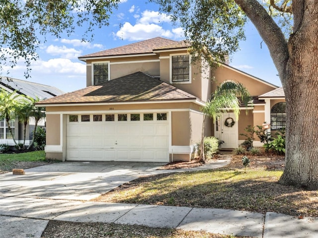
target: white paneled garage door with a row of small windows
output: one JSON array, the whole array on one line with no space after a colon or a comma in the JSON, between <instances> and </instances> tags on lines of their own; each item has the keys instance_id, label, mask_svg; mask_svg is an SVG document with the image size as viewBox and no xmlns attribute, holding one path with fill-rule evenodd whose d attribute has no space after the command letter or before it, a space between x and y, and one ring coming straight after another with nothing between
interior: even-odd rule
<instances>
[{"instance_id":1,"label":"white paneled garage door with a row of small windows","mask_svg":"<svg viewBox=\"0 0 318 238\"><path fill-rule=\"evenodd\" d=\"M68 115L67 160L168 162L166 113Z\"/></svg>"}]
</instances>

